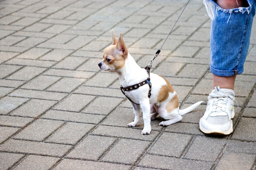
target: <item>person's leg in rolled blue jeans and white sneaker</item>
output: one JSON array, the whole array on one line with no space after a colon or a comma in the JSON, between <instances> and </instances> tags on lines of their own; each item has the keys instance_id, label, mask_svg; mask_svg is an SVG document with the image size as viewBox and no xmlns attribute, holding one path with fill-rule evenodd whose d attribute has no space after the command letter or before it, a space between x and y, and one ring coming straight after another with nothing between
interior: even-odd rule
<instances>
[{"instance_id":1,"label":"person's leg in rolled blue jeans and white sneaker","mask_svg":"<svg viewBox=\"0 0 256 170\"><path fill-rule=\"evenodd\" d=\"M213 91L209 94L200 130L228 135L233 132L234 84L243 72L249 49L256 0L216 0L211 15ZM208 11L209 12L209 11Z\"/></svg>"}]
</instances>

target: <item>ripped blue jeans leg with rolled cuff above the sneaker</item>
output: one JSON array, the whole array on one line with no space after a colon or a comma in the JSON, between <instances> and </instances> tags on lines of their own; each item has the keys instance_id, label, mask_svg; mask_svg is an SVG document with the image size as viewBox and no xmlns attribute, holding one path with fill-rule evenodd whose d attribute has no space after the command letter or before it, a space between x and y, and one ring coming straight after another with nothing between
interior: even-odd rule
<instances>
[{"instance_id":1,"label":"ripped blue jeans leg with rolled cuff above the sneaker","mask_svg":"<svg viewBox=\"0 0 256 170\"><path fill-rule=\"evenodd\" d=\"M222 9L213 0L204 0L211 21L210 70L214 75L229 77L244 71L249 50L256 0L249 7Z\"/></svg>"}]
</instances>

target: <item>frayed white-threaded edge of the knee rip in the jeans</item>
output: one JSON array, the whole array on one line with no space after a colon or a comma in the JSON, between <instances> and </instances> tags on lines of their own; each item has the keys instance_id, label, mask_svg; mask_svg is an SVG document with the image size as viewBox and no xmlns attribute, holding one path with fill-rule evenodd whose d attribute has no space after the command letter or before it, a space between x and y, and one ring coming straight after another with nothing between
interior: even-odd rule
<instances>
[{"instance_id":1,"label":"frayed white-threaded edge of the knee rip in the jeans","mask_svg":"<svg viewBox=\"0 0 256 170\"><path fill-rule=\"evenodd\" d=\"M252 9L252 3L250 2L250 0L247 0L249 7L238 7L238 8L234 8L234 9L223 9L223 8L219 7L218 4L216 4L216 2L214 2L213 0L203 0L203 2L204 2L207 13L208 13L209 17L211 18L211 20L215 19L215 14L218 16L217 11L222 11L223 13L229 13L230 14L229 19L230 19L231 14L233 12L241 12L241 13L247 12L249 14ZM213 7L212 7L213 4L216 6L215 13L214 13ZM229 19L227 20L227 23L229 22Z\"/></svg>"}]
</instances>

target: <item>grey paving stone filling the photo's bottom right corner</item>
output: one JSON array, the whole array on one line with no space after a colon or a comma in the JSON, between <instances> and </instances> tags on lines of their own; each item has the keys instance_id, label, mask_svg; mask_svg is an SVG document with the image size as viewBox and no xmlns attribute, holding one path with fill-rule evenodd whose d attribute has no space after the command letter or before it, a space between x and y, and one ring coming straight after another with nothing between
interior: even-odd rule
<instances>
[{"instance_id":1,"label":"grey paving stone filling the photo's bottom right corner","mask_svg":"<svg viewBox=\"0 0 256 170\"><path fill-rule=\"evenodd\" d=\"M225 152L216 166L216 170L251 170L255 166L255 155Z\"/></svg>"}]
</instances>

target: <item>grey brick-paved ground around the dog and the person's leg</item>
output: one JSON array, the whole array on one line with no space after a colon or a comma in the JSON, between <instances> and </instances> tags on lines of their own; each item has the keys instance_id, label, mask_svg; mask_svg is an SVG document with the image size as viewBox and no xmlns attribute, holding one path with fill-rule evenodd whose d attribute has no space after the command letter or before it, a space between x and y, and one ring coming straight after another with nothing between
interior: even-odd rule
<instances>
[{"instance_id":1,"label":"grey brick-paved ground around the dog and the person's leg","mask_svg":"<svg viewBox=\"0 0 256 170\"><path fill-rule=\"evenodd\" d=\"M181 122L136 128L116 74L100 71L110 31L124 34L141 67L160 48L186 0L0 0L1 170L254 170L256 24L236 82L234 132L198 128L212 80L210 19L191 0L153 63L181 108L204 100Z\"/></svg>"}]
</instances>

